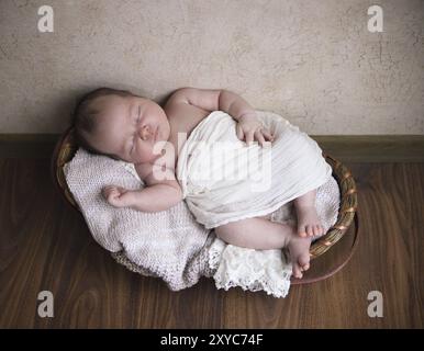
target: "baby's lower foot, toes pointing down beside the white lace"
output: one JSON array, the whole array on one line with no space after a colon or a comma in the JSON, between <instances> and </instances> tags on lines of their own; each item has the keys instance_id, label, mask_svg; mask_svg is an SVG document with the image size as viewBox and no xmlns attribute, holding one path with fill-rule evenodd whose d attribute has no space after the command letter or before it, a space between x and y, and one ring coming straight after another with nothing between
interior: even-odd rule
<instances>
[{"instance_id":1,"label":"baby's lower foot, toes pointing down beside the white lace","mask_svg":"<svg viewBox=\"0 0 424 351\"><path fill-rule=\"evenodd\" d=\"M310 268L309 248L311 247L311 238L301 238L293 234L287 246L290 254L290 261L293 269L293 276L301 279L303 272Z\"/></svg>"}]
</instances>

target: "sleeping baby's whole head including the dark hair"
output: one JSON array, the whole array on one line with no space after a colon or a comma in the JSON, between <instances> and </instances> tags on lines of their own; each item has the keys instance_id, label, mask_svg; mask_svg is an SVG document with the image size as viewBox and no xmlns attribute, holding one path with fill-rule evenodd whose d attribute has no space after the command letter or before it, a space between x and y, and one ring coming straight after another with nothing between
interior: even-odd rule
<instances>
[{"instance_id":1,"label":"sleeping baby's whole head including the dark hair","mask_svg":"<svg viewBox=\"0 0 424 351\"><path fill-rule=\"evenodd\" d=\"M83 95L74 113L77 143L93 154L132 163L148 162L160 154L155 143L168 140L170 126L154 101L130 91L96 89Z\"/></svg>"}]
</instances>

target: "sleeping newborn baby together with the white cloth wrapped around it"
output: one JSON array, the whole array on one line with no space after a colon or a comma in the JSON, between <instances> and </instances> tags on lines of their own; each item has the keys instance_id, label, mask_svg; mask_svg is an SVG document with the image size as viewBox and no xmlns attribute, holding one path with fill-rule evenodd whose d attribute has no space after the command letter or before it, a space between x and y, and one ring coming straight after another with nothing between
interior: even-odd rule
<instances>
[{"instance_id":1,"label":"sleeping newborn baby together with the white cloth wrapped around it","mask_svg":"<svg viewBox=\"0 0 424 351\"><path fill-rule=\"evenodd\" d=\"M185 200L227 244L286 248L295 278L309 269L311 240L324 234L316 189L332 169L316 143L283 118L257 113L227 90L178 89L161 107L100 88L77 104L75 129L80 146L133 163L145 184L105 186L110 205L159 212ZM271 220L291 201L297 226Z\"/></svg>"}]
</instances>

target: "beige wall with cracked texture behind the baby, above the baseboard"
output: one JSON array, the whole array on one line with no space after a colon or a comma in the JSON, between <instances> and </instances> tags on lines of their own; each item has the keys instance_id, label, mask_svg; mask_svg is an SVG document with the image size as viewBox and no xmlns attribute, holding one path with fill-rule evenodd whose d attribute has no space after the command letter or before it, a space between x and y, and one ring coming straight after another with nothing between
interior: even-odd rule
<instances>
[{"instance_id":1,"label":"beige wall with cracked texture behind the baby, above the baseboard","mask_svg":"<svg viewBox=\"0 0 424 351\"><path fill-rule=\"evenodd\" d=\"M98 86L156 101L192 86L310 134L424 134L423 27L420 0L0 0L0 133L62 132Z\"/></svg>"}]
</instances>

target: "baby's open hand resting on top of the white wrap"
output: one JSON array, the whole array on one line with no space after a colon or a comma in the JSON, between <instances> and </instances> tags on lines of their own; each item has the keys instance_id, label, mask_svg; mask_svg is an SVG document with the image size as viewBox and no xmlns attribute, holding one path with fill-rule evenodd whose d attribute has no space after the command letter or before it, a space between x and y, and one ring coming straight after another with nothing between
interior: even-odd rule
<instances>
[{"instance_id":1,"label":"baby's open hand resting on top of the white wrap","mask_svg":"<svg viewBox=\"0 0 424 351\"><path fill-rule=\"evenodd\" d=\"M256 113L246 113L238 118L236 126L237 137L241 140L246 139L246 143L253 140L259 141L260 146L264 146L266 140L274 141L274 136L267 129L256 116Z\"/></svg>"}]
</instances>

